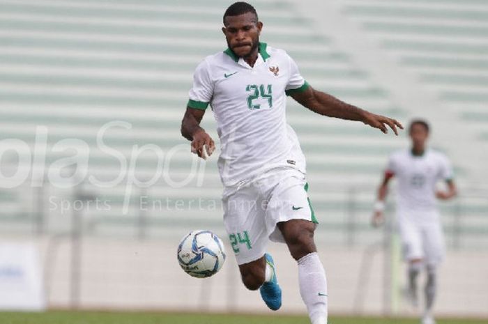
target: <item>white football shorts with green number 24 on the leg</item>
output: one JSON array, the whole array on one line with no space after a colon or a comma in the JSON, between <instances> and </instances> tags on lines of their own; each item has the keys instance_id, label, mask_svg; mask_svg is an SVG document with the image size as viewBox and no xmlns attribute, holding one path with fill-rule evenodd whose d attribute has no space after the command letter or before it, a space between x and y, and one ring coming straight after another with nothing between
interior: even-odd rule
<instances>
[{"instance_id":1,"label":"white football shorts with green number 24 on the leg","mask_svg":"<svg viewBox=\"0 0 488 324\"><path fill-rule=\"evenodd\" d=\"M305 174L291 168L272 169L224 189L224 225L239 265L264 256L269 240L284 242L277 223L291 219L317 223L307 189Z\"/></svg>"}]
</instances>

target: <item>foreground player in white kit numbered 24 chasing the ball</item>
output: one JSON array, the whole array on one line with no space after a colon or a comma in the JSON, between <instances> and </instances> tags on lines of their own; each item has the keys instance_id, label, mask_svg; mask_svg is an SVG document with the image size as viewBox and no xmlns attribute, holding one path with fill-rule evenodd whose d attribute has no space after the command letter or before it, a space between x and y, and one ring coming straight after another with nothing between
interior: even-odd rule
<instances>
[{"instance_id":1,"label":"foreground player in white kit numbered 24 chasing the ball","mask_svg":"<svg viewBox=\"0 0 488 324\"><path fill-rule=\"evenodd\" d=\"M314 90L282 49L259 42L263 23L256 10L236 2L224 13L222 32L228 48L207 56L195 70L181 133L206 158L213 139L199 126L210 105L218 124L218 168L224 185L224 225L243 284L259 289L273 310L281 288L269 240L285 242L298 262L300 294L312 324L327 323L327 286L314 244L314 217L307 197L305 157L287 124L287 95L318 114L363 123L397 134L394 119L348 105Z\"/></svg>"}]
</instances>

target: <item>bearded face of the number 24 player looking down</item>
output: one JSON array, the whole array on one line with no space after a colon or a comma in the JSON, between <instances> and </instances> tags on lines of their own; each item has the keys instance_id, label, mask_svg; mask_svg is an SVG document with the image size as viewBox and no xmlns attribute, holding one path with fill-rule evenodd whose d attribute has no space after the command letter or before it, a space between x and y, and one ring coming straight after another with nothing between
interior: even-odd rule
<instances>
[{"instance_id":1,"label":"bearded face of the number 24 player looking down","mask_svg":"<svg viewBox=\"0 0 488 324\"><path fill-rule=\"evenodd\" d=\"M225 18L222 32L227 39L227 45L239 57L250 56L259 45L259 33L263 23L257 21L254 13L244 13Z\"/></svg>"}]
</instances>

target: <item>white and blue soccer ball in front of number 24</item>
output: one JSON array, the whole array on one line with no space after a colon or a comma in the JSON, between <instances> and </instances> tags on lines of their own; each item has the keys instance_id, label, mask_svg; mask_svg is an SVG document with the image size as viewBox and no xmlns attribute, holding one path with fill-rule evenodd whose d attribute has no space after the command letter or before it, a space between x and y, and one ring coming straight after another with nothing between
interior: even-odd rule
<instances>
[{"instance_id":1,"label":"white and blue soccer ball in front of number 24","mask_svg":"<svg viewBox=\"0 0 488 324\"><path fill-rule=\"evenodd\" d=\"M178 263L192 277L211 277L222 268L224 261L224 244L211 231L191 231L178 246Z\"/></svg>"}]
</instances>

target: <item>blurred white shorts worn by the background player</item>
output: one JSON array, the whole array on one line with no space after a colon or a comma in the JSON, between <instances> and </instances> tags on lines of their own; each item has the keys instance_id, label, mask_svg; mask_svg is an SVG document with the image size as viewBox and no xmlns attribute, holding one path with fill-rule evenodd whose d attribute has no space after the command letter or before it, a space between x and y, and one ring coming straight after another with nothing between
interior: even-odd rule
<instances>
[{"instance_id":1,"label":"blurred white shorts worn by the background player","mask_svg":"<svg viewBox=\"0 0 488 324\"><path fill-rule=\"evenodd\" d=\"M415 222L399 217L399 232L405 261L422 259L427 265L438 265L445 254L440 222Z\"/></svg>"}]
</instances>

